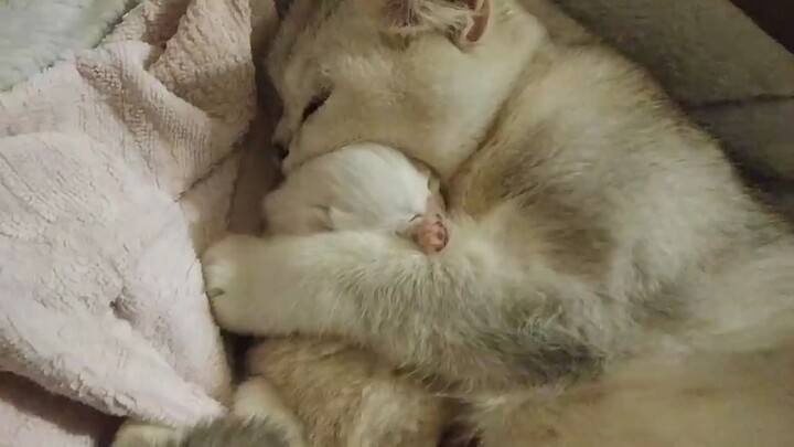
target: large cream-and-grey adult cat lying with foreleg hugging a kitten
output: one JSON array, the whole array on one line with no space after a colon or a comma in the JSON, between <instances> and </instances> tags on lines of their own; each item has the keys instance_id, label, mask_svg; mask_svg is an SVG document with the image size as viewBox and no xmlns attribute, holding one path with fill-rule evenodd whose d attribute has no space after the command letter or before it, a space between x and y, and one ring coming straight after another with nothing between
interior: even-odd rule
<instances>
[{"instance_id":1,"label":"large cream-and-grey adult cat lying with foreleg hugging a kitten","mask_svg":"<svg viewBox=\"0 0 794 447\"><path fill-rule=\"evenodd\" d=\"M230 236L222 326L371 347L485 446L794 445L794 240L641 70L514 0L296 0L273 45L286 169L399 148L452 237Z\"/></svg>"}]
</instances>

